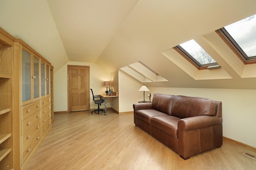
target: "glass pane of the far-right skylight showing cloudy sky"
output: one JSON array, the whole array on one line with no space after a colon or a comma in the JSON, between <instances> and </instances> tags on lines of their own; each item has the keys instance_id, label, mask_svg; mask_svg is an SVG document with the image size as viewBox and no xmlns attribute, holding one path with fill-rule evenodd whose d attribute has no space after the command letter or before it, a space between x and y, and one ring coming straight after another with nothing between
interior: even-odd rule
<instances>
[{"instance_id":1,"label":"glass pane of the far-right skylight showing cloudy sky","mask_svg":"<svg viewBox=\"0 0 256 170\"><path fill-rule=\"evenodd\" d=\"M248 57L256 56L256 15L224 27Z\"/></svg>"}]
</instances>

